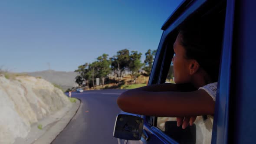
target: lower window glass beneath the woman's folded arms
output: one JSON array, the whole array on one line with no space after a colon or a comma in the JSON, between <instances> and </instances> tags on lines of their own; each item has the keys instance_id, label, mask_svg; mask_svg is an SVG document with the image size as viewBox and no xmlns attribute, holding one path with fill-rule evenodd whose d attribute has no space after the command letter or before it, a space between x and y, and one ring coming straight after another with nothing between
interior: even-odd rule
<instances>
[{"instance_id":1,"label":"lower window glass beneath the woman's folded arms","mask_svg":"<svg viewBox=\"0 0 256 144\"><path fill-rule=\"evenodd\" d=\"M197 116L192 126L177 127L176 118L158 117L157 127L180 144L210 144L213 116Z\"/></svg>"}]
</instances>

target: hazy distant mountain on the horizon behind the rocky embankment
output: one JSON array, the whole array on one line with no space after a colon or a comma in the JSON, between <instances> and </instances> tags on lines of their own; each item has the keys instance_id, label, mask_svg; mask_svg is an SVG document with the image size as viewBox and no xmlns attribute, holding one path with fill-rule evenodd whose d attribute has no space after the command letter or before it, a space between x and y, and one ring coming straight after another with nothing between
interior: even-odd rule
<instances>
[{"instance_id":1,"label":"hazy distant mountain on the horizon behind the rocky embankment","mask_svg":"<svg viewBox=\"0 0 256 144\"><path fill-rule=\"evenodd\" d=\"M60 72L54 70L26 73L30 76L41 77L48 82L59 85L64 91L66 91L68 88L77 86L75 83L75 77L79 75L78 72Z\"/></svg>"}]
</instances>

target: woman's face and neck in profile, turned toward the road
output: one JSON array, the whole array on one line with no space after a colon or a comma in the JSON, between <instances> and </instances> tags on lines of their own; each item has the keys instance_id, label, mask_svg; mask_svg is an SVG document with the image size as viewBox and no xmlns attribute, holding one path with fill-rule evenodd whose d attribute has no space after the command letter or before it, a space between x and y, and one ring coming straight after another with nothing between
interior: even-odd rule
<instances>
[{"instance_id":1,"label":"woman's face and neck in profile, turned toward the road","mask_svg":"<svg viewBox=\"0 0 256 144\"><path fill-rule=\"evenodd\" d=\"M179 83L190 83L190 61L186 59L186 51L181 45L182 35L179 33L174 43L174 57L172 58L174 66L174 82Z\"/></svg>"}]
</instances>

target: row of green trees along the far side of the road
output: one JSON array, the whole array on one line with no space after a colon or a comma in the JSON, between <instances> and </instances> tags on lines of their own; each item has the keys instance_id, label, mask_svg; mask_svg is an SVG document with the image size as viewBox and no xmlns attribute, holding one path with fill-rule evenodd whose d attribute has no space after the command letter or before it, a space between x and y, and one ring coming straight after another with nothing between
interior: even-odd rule
<instances>
[{"instance_id":1,"label":"row of green trees along the far side of the road","mask_svg":"<svg viewBox=\"0 0 256 144\"><path fill-rule=\"evenodd\" d=\"M110 58L104 53L98 56L95 62L79 65L75 70L79 72L79 75L75 77L75 82L79 86L95 87L95 78L99 78L100 83L104 85L110 81L109 76L112 75L115 77L115 82L119 83L127 72L131 75L132 82L135 82L141 69L144 70L144 75L150 74L155 54L156 50L148 49L144 63L142 63L142 53L138 51L129 52L128 49L122 49Z\"/></svg>"}]
</instances>

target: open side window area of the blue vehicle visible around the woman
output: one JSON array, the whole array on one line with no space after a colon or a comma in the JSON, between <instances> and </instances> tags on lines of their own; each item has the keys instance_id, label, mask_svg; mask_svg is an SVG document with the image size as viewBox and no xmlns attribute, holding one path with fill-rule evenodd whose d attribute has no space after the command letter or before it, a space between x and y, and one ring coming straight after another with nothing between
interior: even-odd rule
<instances>
[{"instance_id":1,"label":"open side window area of the blue vehicle visible around the woman","mask_svg":"<svg viewBox=\"0 0 256 144\"><path fill-rule=\"evenodd\" d=\"M207 13L196 13L201 15L203 20L216 20L218 23L217 28L222 31L218 36L223 39L223 27L226 14L226 3L221 3L220 6L214 7ZM191 16L193 19L193 16ZM174 82L174 67L171 62L173 56L173 43L177 36L178 29L174 29L166 38L166 46L164 55L164 66L162 67L161 82L162 83L175 83ZM222 42L217 42L222 43ZM177 127L176 118L155 117L154 126L160 129L168 137L174 139L181 144L208 144L211 142L211 134L213 127L213 115L197 116L196 121L192 126L188 126L185 130L182 127Z\"/></svg>"}]
</instances>

